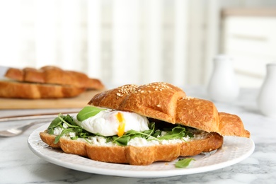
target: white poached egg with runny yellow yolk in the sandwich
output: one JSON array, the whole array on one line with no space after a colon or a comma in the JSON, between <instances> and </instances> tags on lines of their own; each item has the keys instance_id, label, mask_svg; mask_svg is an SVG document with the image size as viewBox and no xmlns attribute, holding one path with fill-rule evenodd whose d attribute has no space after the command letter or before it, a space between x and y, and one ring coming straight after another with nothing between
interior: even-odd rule
<instances>
[{"instance_id":1,"label":"white poached egg with runny yellow yolk in the sandwich","mask_svg":"<svg viewBox=\"0 0 276 184\"><path fill-rule=\"evenodd\" d=\"M149 120L146 117L138 115L137 113L118 110L103 110L84 121L79 121L76 117L74 117L74 120L84 130L103 136L117 134L117 136L121 137L129 130L139 132L149 130Z\"/></svg>"}]
</instances>

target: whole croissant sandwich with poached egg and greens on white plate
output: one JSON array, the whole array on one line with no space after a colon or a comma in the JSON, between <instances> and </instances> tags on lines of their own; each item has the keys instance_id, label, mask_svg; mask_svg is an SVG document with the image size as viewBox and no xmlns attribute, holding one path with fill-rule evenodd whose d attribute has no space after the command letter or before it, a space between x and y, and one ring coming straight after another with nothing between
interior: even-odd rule
<instances>
[{"instance_id":1,"label":"whole croissant sandwich with poached egg and greens on white plate","mask_svg":"<svg viewBox=\"0 0 276 184\"><path fill-rule=\"evenodd\" d=\"M250 137L237 115L218 113L209 100L171 84L113 88L76 116L59 115L43 142L95 161L149 165L219 149L223 136Z\"/></svg>"}]
</instances>

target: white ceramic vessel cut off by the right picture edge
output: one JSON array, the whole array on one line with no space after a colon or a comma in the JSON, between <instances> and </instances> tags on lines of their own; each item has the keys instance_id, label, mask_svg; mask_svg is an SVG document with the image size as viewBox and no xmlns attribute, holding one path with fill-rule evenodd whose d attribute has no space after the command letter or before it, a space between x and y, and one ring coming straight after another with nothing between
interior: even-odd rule
<instances>
[{"instance_id":1,"label":"white ceramic vessel cut off by the right picture edge","mask_svg":"<svg viewBox=\"0 0 276 184\"><path fill-rule=\"evenodd\" d=\"M257 102L263 115L276 118L276 63L266 65L266 76Z\"/></svg>"}]
</instances>

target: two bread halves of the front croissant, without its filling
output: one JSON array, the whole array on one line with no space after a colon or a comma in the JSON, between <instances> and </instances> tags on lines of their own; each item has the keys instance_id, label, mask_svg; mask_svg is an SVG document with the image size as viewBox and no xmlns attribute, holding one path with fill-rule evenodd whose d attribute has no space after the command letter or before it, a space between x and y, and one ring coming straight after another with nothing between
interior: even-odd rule
<instances>
[{"instance_id":1,"label":"two bread halves of the front croissant, without its filling","mask_svg":"<svg viewBox=\"0 0 276 184\"><path fill-rule=\"evenodd\" d=\"M96 161L149 165L155 161L173 161L179 156L194 156L219 149L224 135L250 137L238 116L218 113L211 101L188 97L181 88L163 82L113 88L93 96L88 105L106 108L111 112L142 115L156 125L180 125L191 130L194 137L182 142L122 146L94 144L84 142L83 139L72 140L68 135L60 137L59 142L54 142L58 135L45 130L40 132L42 141L65 153L78 154Z\"/></svg>"}]
</instances>

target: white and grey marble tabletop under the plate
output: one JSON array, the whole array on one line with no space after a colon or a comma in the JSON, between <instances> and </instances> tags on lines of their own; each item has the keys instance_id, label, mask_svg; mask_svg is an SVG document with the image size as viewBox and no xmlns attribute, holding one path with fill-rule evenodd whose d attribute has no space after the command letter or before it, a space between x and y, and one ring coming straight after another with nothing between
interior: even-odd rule
<instances>
[{"instance_id":1,"label":"white and grey marble tabletop under the plate","mask_svg":"<svg viewBox=\"0 0 276 184\"><path fill-rule=\"evenodd\" d=\"M205 88L186 87L184 90L188 96L208 99ZM253 154L233 166L168 178L124 178L74 171L40 159L30 151L28 136L41 126L35 125L18 137L0 137L0 183L276 183L276 120L259 113L257 95L257 89L243 88L232 103L215 102L219 111L240 116L255 142ZM0 110L0 117L42 111ZM62 110L46 111L59 113ZM0 130L29 121L0 122Z\"/></svg>"}]
</instances>

